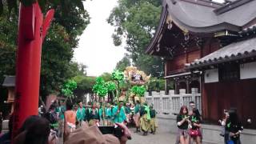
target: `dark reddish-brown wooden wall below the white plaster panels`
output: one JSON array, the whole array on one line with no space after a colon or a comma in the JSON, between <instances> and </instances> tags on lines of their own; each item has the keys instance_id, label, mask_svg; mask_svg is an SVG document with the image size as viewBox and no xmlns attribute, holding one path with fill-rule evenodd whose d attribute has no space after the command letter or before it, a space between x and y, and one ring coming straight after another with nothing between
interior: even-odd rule
<instances>
[{"instance_id":1,"label":"dark reddish-brown wooden wall below the white plaster panels","mask_svg":"<svg viewBox=\"0 0 256 144\"><path fill-rule=\"evenodd\" d=\"M202 116L206 121L217 123L223 110L231 107L237 108L243 126L256 129L256 78L202 84ZM252 125L247 124L247 118L252 118Z\"/></svg>"}]
</instances>

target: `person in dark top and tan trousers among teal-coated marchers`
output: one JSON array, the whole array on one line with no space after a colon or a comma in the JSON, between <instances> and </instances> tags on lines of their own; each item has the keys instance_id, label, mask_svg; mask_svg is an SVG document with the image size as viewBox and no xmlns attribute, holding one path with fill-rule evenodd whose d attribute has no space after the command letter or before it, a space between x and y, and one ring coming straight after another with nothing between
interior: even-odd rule
<instances>
[{"instance_id":1,"label":"person in dark top and tan trousers among teal-coated marchers","mask_svg":"<svg viewBox=\"0 0 256 144\"><path fill-rule=\"evenodd\" d=\"M94 126L94 125L99 126L100 116L99 116L96 103L93 103L92 108L88 109L87 113L88 113L87 122L89 122L89 126Z\"/></svg>"}]
</instances>

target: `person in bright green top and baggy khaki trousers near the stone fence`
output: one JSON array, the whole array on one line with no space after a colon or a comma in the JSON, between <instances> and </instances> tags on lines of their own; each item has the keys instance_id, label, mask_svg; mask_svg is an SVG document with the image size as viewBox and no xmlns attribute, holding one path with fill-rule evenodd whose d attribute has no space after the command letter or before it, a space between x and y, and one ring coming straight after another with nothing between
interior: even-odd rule
<instances>
[{"instance_id":1,"label":"person in bright green top and baggy khaki trousers near the stone fence","mask_svg":"<svg viewBox=\"0 0 256 144\"><path fill-rule=\"evenodd\" d=\"M147 135L148 130L150 130L150 107L147 106L146 102L141 108L140 115L142 115L140 118L141 130L143 131L143 135Z\"/></svg>"}]
</instances>

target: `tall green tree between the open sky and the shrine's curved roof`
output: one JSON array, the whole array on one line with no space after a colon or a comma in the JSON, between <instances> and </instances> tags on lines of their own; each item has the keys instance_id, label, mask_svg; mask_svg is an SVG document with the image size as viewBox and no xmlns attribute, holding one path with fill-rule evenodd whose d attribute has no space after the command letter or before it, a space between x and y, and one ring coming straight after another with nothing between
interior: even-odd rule
<instances>
[{"instance_id":1,"label":"tall green tree between the open sky and the shrine's curved roof","mask_svg":"<svg viewBox=\"0 0 256 144\"><path fill-rule=\"evenodd\" d=\"M126 39L126 50L134 65L155 77L163 71L162 59L145 54L153 38L161 13L159 0L118 0L108 22L115 27L112 38L116 46Z\"/></svg>"}]
</instances>

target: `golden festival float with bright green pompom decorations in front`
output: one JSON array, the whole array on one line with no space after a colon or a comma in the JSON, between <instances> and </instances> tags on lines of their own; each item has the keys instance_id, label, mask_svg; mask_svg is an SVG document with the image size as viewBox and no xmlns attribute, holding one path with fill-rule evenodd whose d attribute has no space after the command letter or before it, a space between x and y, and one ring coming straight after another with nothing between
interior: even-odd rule
<instances>
[{"instance_id":1,"label":"golden festival float with bright green pompom decorations in front","mask_svg":"<svg viewBox=\"0 0 256 144\"><path fill-rule=\"evenodd\" d=\"M123 72L114 70L109 82L97 78L93 91L104 101L108 96L110 98L107 100L108 102L145 102L143 96L148 82L150 82L150 75L146 75L136 67L128 66Z\"/></svg>"}]
</instances>

